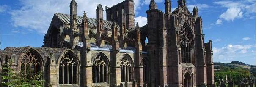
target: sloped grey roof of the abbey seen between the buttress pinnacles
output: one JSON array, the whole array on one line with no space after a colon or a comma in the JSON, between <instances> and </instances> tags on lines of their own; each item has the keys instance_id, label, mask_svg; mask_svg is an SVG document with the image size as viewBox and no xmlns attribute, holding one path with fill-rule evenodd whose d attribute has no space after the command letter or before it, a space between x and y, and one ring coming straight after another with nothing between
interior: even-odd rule
<instances>
[{"instance_id":1,"label":"sloped grey roof of the abbey seen between the buttress pinnacles","mask_svg":"<svg viewBox=\"0 0 256 87\"><path fill-rule=\"evenodd\" d=\"M55 15L62 21L63 24L70 24L70 16L68 14L55 13ZM78 25L82 25L82 19L83 17L77 16ZM112 21L103 20L103 29L111 30L112 24ZM96 29L97 20L95 18L88 18L88 27ZM119 30L119 25L117 25L117 28Z\"/></svg>"}]
</instances>

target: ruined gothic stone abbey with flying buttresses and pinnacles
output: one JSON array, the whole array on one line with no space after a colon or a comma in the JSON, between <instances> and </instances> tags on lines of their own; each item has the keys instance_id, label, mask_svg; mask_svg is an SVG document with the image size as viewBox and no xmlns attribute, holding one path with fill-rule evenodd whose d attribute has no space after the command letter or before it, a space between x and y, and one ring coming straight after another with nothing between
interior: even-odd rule
<instances>
[{"instance_id":1,"label":"ruined gothic stone abbey with flying buttresses and pinnacles","mask_svg":"<svg viewBox=\"0 0 256 87\"><path fill-rule=\"evenodd\" d=\"M1 65L14 60L27 79L41 71L53 87L215 87L212 41L204 43L198 8L190 13L178 0L171 11L165 0L163 13L151 0L142 27L133 0L106 6L107 20L103 11L98 5L97 18L77 16L72 0L70 15L54 14L42 47L6 47Z\"/></svg>"}]
</instances>

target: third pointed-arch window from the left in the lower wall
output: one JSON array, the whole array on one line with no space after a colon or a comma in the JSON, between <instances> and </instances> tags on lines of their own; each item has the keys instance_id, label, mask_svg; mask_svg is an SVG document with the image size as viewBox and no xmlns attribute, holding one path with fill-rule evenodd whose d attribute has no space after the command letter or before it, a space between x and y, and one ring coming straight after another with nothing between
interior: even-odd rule
<instances>
[{"instance_id":1,"label":"third pointed-arch window from the left in the lower wall","mask_svg":"<svg viewBox=\"0 0 256 87\"><path fill-rule=\"evenodd\" d=\"M92 62L93 83L107 82L108 61L104 54L96 55Z\"/></svg>"}]
</instances>

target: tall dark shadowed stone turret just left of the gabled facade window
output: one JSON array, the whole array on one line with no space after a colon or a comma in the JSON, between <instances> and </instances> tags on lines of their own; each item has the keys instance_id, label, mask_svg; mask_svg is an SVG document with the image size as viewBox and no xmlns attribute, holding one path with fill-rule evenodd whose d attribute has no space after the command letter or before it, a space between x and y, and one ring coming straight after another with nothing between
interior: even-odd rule
<instances>
[{"instance_id":1,"label":"tall dark shadowed stone turret just left of the gabled facade window","mask_svg":"<svg viewBox=\"0 0 256 87\"><path fill-rule=\"evenodd\" d=\"M151 0L149 10L146 11L148 16L148 40L147 49L151 59L151 86L163 87L167 84L167 30L165 27L165 15L157 9L157 4ZM155 62L159 61L159 62Z\"/></svg>"}]
</instances>

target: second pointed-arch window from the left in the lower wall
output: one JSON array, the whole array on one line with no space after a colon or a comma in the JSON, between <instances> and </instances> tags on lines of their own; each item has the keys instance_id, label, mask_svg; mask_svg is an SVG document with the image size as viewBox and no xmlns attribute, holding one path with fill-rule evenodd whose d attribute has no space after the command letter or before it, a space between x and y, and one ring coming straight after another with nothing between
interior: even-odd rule
<instances>
[{"instance_id":1,"label":"second pointed-arch window from the left in the lower wall","mask_svg":"<svg viewBox=\"0 0 256 87\"><path fill-rule=\"evenodd\" d=\"M71 53L66 53L59 63L59 84L77 84L78 61Z\"/></svg>"}]
</instances>

